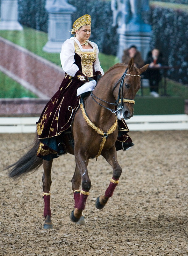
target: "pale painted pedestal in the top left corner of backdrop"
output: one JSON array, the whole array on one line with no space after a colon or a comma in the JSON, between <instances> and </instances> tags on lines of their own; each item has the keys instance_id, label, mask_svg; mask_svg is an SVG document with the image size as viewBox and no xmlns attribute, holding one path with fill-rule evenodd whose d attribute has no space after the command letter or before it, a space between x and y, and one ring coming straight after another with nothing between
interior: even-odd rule
<instances>
[{"instance_id":1,"label":"pale painted pedestal in the top left corner of backdrop","mask_svg":"<svg viewBox=\"0 0 188 256\"><path fill-rule=\"evenodd\" d=\"M18 1L1 0L0 30L22 30L18 22Z\"/></svg>"}]
</instances>

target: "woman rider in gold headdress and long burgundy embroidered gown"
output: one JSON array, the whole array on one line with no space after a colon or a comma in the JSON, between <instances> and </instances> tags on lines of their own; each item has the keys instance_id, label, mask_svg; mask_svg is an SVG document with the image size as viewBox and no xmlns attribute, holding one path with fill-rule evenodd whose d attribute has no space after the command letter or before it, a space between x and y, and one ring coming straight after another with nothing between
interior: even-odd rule
<instances>
[{"instance_id":1,"label":"woman rider in gold headdress and long burgundy embroidered gown","mask_svg":"<svg viewBox=\"0 0 188 256\"><path fill-rule=\"evenodd\" d=\"M80 95L77 96L77 89L84 83L87 83L87 88L91 88L96 85L96 82L93 83L94 80L98 81L104 75L98 59L98 46L89 41L90 15L86 14L78 18L73 24L71 34L75 36L62 44L60 53L65 77L37 122L37 134L40 140L37 156L45 160L66 154L66 147L61 141L61 133L70 128L72 117L79 108ZM85 92L90 90L87 88ZM132 143L130 137L125 134L128 132L126 123L121 130L123 132L119 141L126 140ZM120 146L119 149L122 147Z\"/></svg>"}]
</instances>

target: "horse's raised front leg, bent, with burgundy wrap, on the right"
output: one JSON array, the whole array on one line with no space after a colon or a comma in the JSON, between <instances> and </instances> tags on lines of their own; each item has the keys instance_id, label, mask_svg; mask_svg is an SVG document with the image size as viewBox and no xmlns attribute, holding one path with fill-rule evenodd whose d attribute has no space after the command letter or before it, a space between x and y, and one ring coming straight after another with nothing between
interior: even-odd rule
<instances>
[{"instance_id":1,"label":"horse's raised front leg, bent, with burgundy wrap, on the right","mask_svg":"<svg viewBox=\"0 0 188 256\"><path fill-rule=\"evenodd\" d=\"M104 196L101 195L97 198L97 201L96 201L95 205L96 205L96 208L99 209L99 210L102 209L105 206L108 199L113 195L114 189L116 188L116 186L119 183L119 177L120 177L121 172L122 172L122 169L118 164L117 153L116 153L116 148L115 147L112 147L111 149L106 150L101 155L112 166L113 175L112 175L112 179L110 180L110 184L109 184L108 188L105 191L105 195Z\"/></svg>"}]
</instances>

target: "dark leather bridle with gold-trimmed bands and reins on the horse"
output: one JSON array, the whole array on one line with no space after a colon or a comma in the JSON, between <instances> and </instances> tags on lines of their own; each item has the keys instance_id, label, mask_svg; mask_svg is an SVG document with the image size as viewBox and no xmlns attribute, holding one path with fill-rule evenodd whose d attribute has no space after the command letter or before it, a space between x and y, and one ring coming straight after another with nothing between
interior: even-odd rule
<instances>
[{"instance_id":1,"label":"dark leather bridle with gold-trimmed bands and reins on the horse","mask_svg":"<svg viewBox=\"0 0 188 256\"><path fill-rule=\"evenodd\" d=\"M112 89L112 92L113 92L114 89L117 87L117 85L118 85L119 82L120 82L119 93L118 93L118 99L115 101L115 103L110 103L110 102L108 102L108 101L105 101L105 100L102 100L102 99L98 98L97 96L95 96L95 95L93 94L92 91L91 91L91 98L92 98L95 102L97 102L98 105L102 106L102 107L105 108L105 109L110 110L112 113L116 113L117 111L119 111L120 109L122 109L124 103L126 103L126 102L134 104L134 103L135 103L134 100L123 98L123 84L124 84L124 79L125 79L125 76L139 76L139 77L141 77L141 76L140 76L140 75L127 74L127 70L128 70L128 68L125 70L125 72L123 73L123 75L121 76L121 78L118 80L118 82L115 84L114 88ZM104 105L100 104L97 100L95 100L94 97L95 97L96 99L98 99L98 100L101 100L101 101L107 103L107 104L110 104L110 105L113 105L113 106L117 106L117 107L118 107L117 110L114 110L114 109L105 107Z\"/></svg>"}]
</instances>

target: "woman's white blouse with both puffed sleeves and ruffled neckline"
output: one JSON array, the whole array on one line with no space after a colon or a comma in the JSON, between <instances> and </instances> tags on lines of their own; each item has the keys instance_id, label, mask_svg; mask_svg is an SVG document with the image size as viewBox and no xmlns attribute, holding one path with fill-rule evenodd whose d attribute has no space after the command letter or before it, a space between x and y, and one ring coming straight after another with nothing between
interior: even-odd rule
<instances>
[{"instance_id":1,"label":"woman's white blouse with both puffed sleeves and ruffled neckline","mask_svg":"<svg viewBox=\"0 0 188 256\"><path fill-rule=\"evenodd\" d=\"M88 43L93 47L93 49L83 49L82 45L80 44L80 42L75 38L75 37L71 37L70 39L67 39L61 47L61 53L60 53L60 59L61 59L61 66L63 68L63 70L69 75L69 76L75 76L76 72L79 70L78 66L76 64L74 64L75 59L74 59L74 55L75 55L75 44L74 44L74 40L76 41L76 43L78 44L80 50L82 52L94 52L94 48L96 48L96 54L97 54L97 58L94 62L94 70L95 71L100 71L102 75L104 75L104 71L100 66L100 62L98 59L98 46L97 44L90 42L88 40Z\"/></svg>"}]
</instances>

